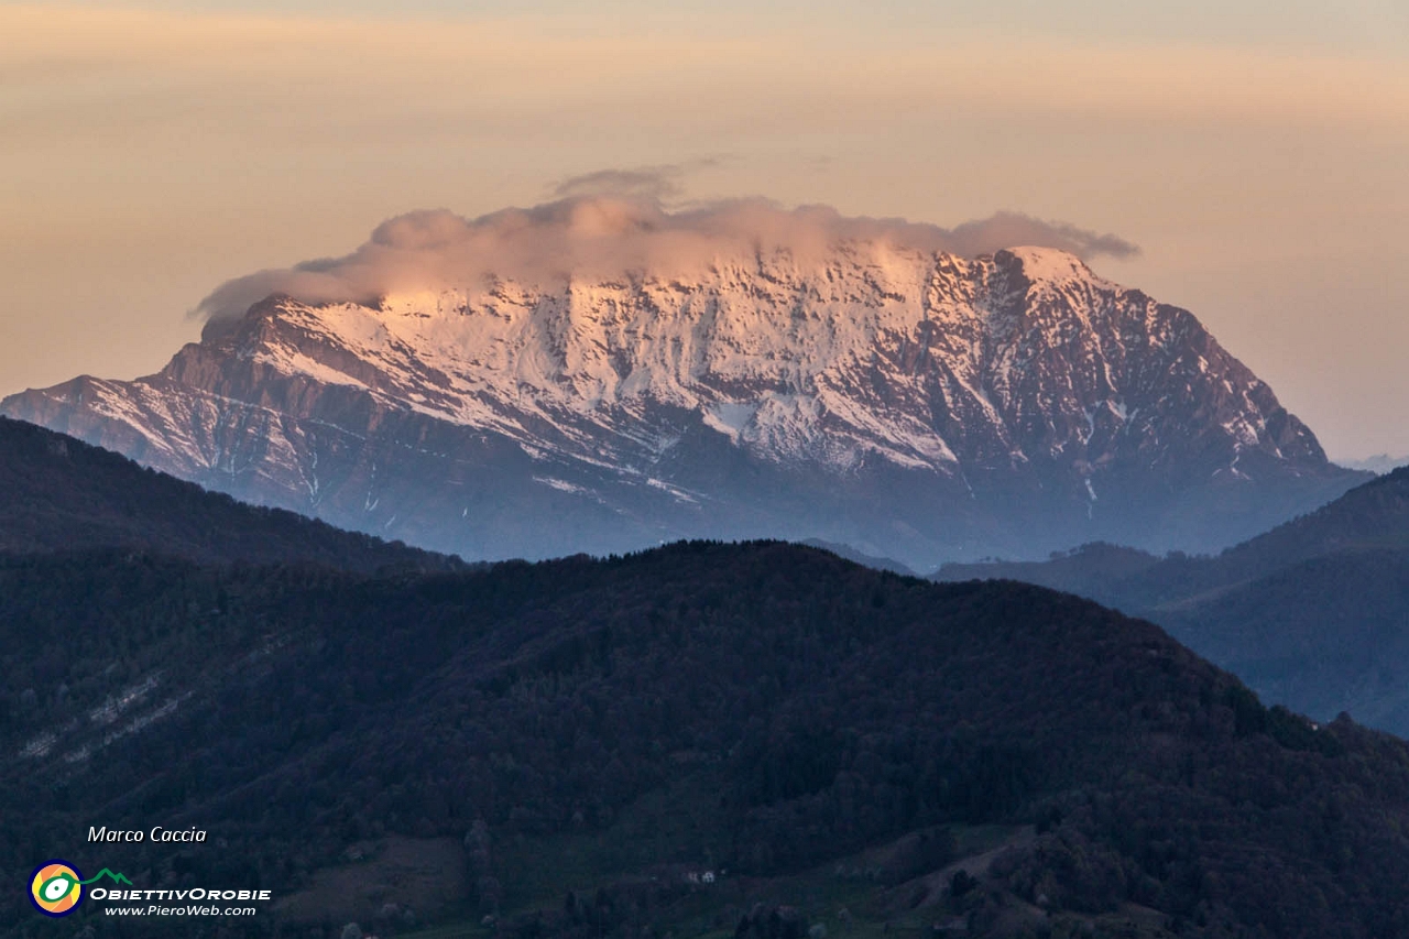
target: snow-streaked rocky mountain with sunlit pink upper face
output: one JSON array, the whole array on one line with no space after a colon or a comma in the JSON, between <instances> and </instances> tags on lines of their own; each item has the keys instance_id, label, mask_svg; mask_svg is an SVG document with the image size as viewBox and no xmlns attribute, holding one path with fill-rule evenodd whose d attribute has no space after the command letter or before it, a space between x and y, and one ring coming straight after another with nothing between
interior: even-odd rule
<instances>
[{"instance_id":1,"label":"snow-streaked rocky mountain with sunlit pink upper face","mask_svg":"<svg viewBox=\"0 0 1409 939\"><path fill-rule=\"evenodd\" d=\"M466 557L820 537L912 567L1233 543L1360 479L1188 312L1053 250L309 305L0 412Z\"/></svg>"}]
</instances>

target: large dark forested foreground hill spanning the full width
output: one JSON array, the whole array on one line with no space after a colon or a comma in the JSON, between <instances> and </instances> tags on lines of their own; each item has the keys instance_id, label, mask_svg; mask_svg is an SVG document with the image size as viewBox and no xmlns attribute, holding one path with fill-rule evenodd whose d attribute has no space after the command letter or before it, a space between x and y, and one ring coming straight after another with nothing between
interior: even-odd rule
<instances>
[{"instance_id":1,"label":"large dark forested foreground hill spanning the full width","mask_svg":"<svg viewBox=\"0 0 1409 939\"><path fill-rule=\"evenodd\" d=\"M411 905L486 939L1409 935L1409 746L1034 587L778 543L395 579L99 553L0 560L0 876L278 892L231 935ZM376 852L445 843L427 914Z\"/></svg>"}]
</instances>

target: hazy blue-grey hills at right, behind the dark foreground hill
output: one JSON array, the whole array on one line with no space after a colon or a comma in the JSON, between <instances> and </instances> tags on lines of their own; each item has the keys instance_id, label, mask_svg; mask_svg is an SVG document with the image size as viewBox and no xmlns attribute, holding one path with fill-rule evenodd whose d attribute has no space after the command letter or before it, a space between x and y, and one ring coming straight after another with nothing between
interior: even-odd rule
<instances>
[{"instance_id":1,"label":"hazy blue-grey hills at right, behind the dark foreground hill","mask_svg":"<svg viewBox=\"0 0 1409 939\"><path fill-rule=\"evenodd\" d=\"M1155 620L1270 701L1409 735L1409 468L1215 557L1089 544L937 577L1089 596Z\"/></svg>"}]
</instances>

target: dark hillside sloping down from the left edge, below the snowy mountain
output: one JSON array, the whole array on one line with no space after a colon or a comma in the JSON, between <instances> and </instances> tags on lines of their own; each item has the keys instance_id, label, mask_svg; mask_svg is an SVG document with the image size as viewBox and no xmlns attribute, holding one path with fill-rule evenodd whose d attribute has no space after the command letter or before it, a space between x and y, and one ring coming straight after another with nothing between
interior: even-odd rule
<instances>
[{"instance_id":1,"label":"dark hillside sloping down from the left edge, below the snowy mountain","mask_svg":"<svg viewBox=\"0 0 1409 939\"><path fill-rule=\"evenodd\" d=\"M0 417L0 551L137 547L196 561L451 570L444 556L262 509Z\"/></svg>"}]
</instances>

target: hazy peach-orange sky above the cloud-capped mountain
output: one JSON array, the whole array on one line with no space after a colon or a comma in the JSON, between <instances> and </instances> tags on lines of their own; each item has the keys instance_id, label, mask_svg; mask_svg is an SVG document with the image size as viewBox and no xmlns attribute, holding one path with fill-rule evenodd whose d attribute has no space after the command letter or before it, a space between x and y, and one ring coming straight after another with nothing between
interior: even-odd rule
<instances>
[{"instance_id":1,"label":"hazy peach-orange sky above the cloud-capped mountain","mask_svg":"<svg viewBox=\"0 0 1409 939\"><path fill-rule=\"evenodd\" d=\"M0 3L0 393L221 282L597 171L1141 248L1337 457L1409 454L1409 4Z\"/></svg>"}]
</instances>

